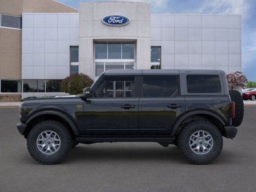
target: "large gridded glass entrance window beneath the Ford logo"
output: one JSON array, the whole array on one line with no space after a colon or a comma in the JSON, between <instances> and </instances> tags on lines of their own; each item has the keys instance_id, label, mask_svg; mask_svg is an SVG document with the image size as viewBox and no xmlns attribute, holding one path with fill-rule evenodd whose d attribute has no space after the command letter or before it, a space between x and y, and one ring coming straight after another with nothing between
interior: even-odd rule
<instances>
[{"instance_id":1,"label":"large gridded glass entrance window beneath the Ford logo","mask_svg":"<svg viewBox=\"0 0 256 192\"><path fill-rule=\"evenodd\" d=\"M134 42L96 42L95 76L111 69L134 69Z\"/></svg>"}]
</instances>

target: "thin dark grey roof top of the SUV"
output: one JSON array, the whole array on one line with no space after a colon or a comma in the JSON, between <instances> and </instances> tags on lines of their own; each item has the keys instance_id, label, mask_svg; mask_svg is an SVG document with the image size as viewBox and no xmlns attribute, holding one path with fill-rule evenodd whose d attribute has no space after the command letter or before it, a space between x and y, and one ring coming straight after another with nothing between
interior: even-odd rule
<instances>
[{"instance_id":1,"label":"thin dark grey roof top of the SUV","mask_svg":"<svg viewBox=\"0 0 256 192\"><path fill-rule=\"evenodd\" d=\"M175 75L180 73L211 73L222 70L190 70L190 69L114 69L104 72L104 75Z\"/></svg>"}]
</instances>

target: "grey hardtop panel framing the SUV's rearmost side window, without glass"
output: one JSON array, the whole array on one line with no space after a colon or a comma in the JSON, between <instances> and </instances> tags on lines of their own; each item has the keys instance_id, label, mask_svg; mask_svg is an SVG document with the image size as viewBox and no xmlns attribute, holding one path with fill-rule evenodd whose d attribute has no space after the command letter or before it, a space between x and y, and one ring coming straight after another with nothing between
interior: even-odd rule
<instances>
[{"instance_id":1,"label":"grey hardtop panel framing the SUV's rearmost side window, without glass","mask_svg":"<svg viewBox=\"0 0 256 192\"><path fill-rule=\"evenodd\" d=\"M187 75L218 75L220 78L220 93L188 93L187 90ZM224 84L221 72L180 72L180 92L182 95L225 95Z\"/></svg>"}]
</instances>

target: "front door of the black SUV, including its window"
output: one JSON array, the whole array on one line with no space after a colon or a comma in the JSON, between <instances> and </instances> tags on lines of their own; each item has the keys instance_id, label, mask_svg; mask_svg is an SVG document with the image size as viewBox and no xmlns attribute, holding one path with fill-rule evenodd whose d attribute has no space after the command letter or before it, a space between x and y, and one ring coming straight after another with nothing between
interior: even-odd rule
<instances>
[{"instance_id":1,"label":"front door of the black SUV, including its window","mask_svg":"<svg viewBox=\"0 0 256 192\"><path fill-rule=\"evenodd\" d=\"M103 76L84 104L88 136L138 136L135 76Z\"/></svg>"}]
</instances>

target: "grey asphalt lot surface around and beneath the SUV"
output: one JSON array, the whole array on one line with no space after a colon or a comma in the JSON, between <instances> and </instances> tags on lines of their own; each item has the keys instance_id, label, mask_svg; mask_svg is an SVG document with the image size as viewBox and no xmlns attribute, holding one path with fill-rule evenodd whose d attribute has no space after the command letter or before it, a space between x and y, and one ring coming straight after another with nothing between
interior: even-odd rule
<instances>
[{"instance_id":1,"label":"grey asphalt lot surface around and beneath the SUV","mask_svg":"<svg viewBox=\"0 0 256 192\"><path fill-rule=\"evenodd\" d=\"M234 140L212 164L194 165L175 146L79 144L56 165L42 165L16 130L18 108L0 108L0 191L255 192L256 107L246 106Z\"/></svg>"}]
</instances>

